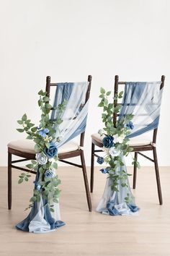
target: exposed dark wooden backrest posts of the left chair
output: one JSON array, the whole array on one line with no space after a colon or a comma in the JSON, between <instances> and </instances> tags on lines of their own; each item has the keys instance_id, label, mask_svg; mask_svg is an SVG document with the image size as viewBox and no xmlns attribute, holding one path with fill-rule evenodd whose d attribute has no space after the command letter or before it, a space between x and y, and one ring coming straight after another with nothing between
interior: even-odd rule
<instances>
[{"instance_id":1,"label":"exposed dark wooden backrest posts of the left chair","mask_svg":"<svg viewBox=\"0 0 170 256\"><path fill-rule=\"evenodd\" d=\"M91 80L92 80L92 76L89 75L88 80L87 80L89 82L89 86L88 86L87 91L86 91L86 98L85 98L84 104L89 100L90 90L91 90ZM51 87L57 87L57 86L58 86L58 83L50 82L50 76L46 77L45 91L47 92L47 95L48 95L49 98L50 98L50 88ZM80 146L81 147L84 146L84 135L85 135L85 132L82 132L81 135L80 135Z\"/></svg>"}]
</instances>

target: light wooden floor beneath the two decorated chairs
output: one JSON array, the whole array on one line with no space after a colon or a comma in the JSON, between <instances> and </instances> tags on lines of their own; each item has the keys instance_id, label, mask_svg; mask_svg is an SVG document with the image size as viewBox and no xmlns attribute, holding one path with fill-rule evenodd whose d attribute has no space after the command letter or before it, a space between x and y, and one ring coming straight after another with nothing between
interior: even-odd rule
<instances>
[{"instance_id":1,"label":"light wooden floor beneath the two decorated chairs","mask_svg":"<svg viewBox=\"0 0 170 256\"><path fill-rule=\"evenodd\" d=\"M94 210L89 213L81 169L59 168L61 219L66 226L48 234L30 234L17 231L14 225L28 214L23 210L32 195L34 176L29 184L18 185L19 171L13 171L13 205L9 211L6 204L7 172L1 167L0 255L170 255L170 168L160 168L164 205L158 205L153 168L143 167L138 170L138 186L134 191L139 215L116 217L95 212L106 177L98 170L95 170L95 187L91 195Z\"/></svg>"}]
</instances>

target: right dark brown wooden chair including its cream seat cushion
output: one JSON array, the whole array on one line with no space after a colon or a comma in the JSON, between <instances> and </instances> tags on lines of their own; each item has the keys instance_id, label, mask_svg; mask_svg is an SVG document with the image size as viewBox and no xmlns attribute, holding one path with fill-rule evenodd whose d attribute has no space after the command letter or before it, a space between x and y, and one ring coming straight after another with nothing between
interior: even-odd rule
<instances>
[{"instance_id":1,"label":"right dark brown wooden chair including its cream seat cushion","mask_svg":"<svg viewBox=\"0 0 170 256\"><path fill-rule=\"evenodd\" d=\"M164 80L165 76L161 76L161 88L164 87ZM125 82L120 82L118 75L115 76L115 90L114 90L114 95L118 93L118 87L119 85L125 85ZM117 100L114 101L114 105L117 106ZM113 122L114 124L116 123L117 120L117 114L114 115ZM157 189L158 189L158 199L160 205L162 205L163 200L162 200L162 194L161 194L161 182L160 182L160 177L159 177L159 171L158 171L158 159L157 159L157 154L156 154L156 135L157 135L158 129L153 130L153 139L152 140L146 140L143 136L138 136L130 139L130 142L128 144L130 147L133 148L133 152L135 152L135 159L138 159L138 154L142 155L144 158L147 158L148 160L152 161L155 166L155 171L156 171L156 182L157 182ZM102 148L102 138L98 134L91 135L91 192L93 192L94 189L94 156L98 157L97 155L98 152L102 152L102 150L96 150L95 146ZM153 159L149 158L147 155L144 155L143 151L148 151L152 150L153 151ZM136 176L137 176L137 166L134 166L133 169L133 189L136 187Z\"/></svg>"}]
</instances>

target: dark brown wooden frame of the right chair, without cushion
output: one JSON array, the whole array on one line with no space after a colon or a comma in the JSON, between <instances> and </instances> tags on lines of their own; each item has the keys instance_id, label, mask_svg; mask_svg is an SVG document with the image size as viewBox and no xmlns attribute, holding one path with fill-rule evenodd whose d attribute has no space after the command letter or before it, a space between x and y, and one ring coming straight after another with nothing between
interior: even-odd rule
<instances>
[{"instance_id":1,"label":"dark brown wooden frame of the right chair, without cushion","mask_svg":"<svg viewBox=\"0 0 170 256\"><path fill-rule=\"evenodd\" d=\"M164 80L165 76L161 76L161 88L164 87ZM120 82L118 75L115 76L115 90L114 90L114 95L118 93L118 86L119 85L125 85L125 82ZM154 85L153 85L154 86ZM117 100L114 101L114 106L117 106L119 103L117 103ZM117 121L117 116L118 114L114 114L113 117L113 123L116 124ZM153 142L151 145L143 145L143 146L133 146L133 152L135 152L135 159L138 159L138 154L142 155L144 158L147 158L151 162L154 163L155 166L155 171L156 171L156 183L157 183L157 189L158 189L158 200L159 204L163 204L162 200L162 194L161 194L161 182L160 182L160 177L159 177L159 171L158 171L158 158L157 158L157 153L156 153L156 135L157 135L158 129L153 130ZM91 179L90 179L90 184L91 184L91 192L93 192L94 189L94 156L98 157L97 152L102 152L102 150L95 150L95 145L97 147L102 148L103 144L101 142L98 142L97 140L92 139L91 141ZM148 151L152 150L153 151L153 159L149 158L147 155L144 155L141 153L142 151ZM137 176L137 166L134 165L133 168L133 189L136 187L136 176Z\"/></svg>"}]
</instances>

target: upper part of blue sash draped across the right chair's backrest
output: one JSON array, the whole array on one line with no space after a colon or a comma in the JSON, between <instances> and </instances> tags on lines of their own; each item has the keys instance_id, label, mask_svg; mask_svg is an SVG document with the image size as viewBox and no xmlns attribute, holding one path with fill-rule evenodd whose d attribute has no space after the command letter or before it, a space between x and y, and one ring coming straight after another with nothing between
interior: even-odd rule
<instances>
[{"instance_id":1,"label":"upper part of blue sash draped across the right chair's backrest","mask_svg":"<svg viewBox=\"0 0 170 256\"><path fill-rule=\"evenodd\" d=\"M120 118L133 114L134 129L128 137L135 137L158 127L163 88L161 82L127 82Z\"/></svg>"}]
</instances>

